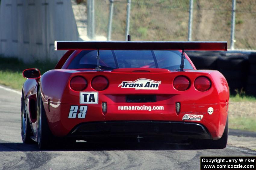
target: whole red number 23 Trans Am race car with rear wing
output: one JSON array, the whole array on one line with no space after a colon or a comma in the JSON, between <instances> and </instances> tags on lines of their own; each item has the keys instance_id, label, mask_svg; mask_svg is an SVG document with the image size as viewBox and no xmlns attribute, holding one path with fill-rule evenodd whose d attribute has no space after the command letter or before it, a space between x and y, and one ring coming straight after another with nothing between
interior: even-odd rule
<instances>
[{"instance_id":1,"label":"whole red number 23 Trans Am race car with rear wing","mask_svg":"<svg viewBox=\"0 0 256 170\"><path fill-rule=\"evenodd\" d=\"M226 42L55 41L55 50L68 51L54 70L23 71L24 143L45 149L56 139L110 138L226 147L227 81L216 70L196 70L184 52L226 51Z\"/></svg>"}]
</instances>

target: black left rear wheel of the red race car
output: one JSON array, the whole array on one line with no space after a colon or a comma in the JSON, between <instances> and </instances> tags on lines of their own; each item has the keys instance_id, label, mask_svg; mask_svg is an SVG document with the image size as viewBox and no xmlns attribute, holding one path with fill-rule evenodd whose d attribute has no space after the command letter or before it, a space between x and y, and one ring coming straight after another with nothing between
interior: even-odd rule
<instances>
[{"instance_id":1,"label":"black left rear wheel of the red race car","mask_svg":"<svg viewBox=\"0 0 256 170\"><path fill-rule=\"evenodd\" d=\"M39 149L50 149L52 148L53 135L48 126L48 122L45 115L45 109L42 102L41 91L37 93L37 118L36 118L36 134L37 134L37 144Z\"/></svg>"}]
</instances>

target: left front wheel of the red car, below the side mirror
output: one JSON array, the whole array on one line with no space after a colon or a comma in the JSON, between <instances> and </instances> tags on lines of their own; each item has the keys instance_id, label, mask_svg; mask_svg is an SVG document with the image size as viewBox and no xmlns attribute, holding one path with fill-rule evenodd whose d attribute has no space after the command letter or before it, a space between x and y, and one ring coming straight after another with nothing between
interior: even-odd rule
<instances>
[{"instance_id":1,"label":"left front wheel of the red car, below the side mirror","mask_svg":"<svg viewBox=\"0 0 256 170\"><path fill-rule=\"evenodd\" d=\"M30 127L30 122L28 119L28 114L27 114L27 104L25 100L25 96L22 92L22 97L21 97L21 138L23 143L25 144L31 144L33 143L33 140L30 138L32 135L31 127Z\"/></svg>"}]
</instances>

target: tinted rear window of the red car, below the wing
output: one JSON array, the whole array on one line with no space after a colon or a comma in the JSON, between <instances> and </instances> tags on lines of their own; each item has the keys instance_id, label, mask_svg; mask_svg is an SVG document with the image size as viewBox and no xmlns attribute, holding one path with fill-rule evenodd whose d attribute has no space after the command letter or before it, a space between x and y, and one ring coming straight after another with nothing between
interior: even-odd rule
<instances>
[{"instance_id":1,"label":"tinted rear window of the red car, below the wing","mask_svg":"<svg viewBox=\"0 0 256 170\"><path fill-rule=\"evenodd\" d=\"M103 70L116 68L180 68L181 52L166 50L100 50L99 65ZM97 51L83 50L71 61L68 69L95 69ZM192 65L184 59L184 69L193 70Z\"/></svg>"}]
</instances>

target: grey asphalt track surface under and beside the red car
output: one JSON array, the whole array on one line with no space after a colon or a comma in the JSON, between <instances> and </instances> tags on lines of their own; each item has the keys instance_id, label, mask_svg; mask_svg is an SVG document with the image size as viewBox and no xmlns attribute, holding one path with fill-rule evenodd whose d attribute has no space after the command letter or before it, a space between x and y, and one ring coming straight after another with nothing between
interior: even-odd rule
<instances>
[{"instance_id":1,"label":"grey asphalt track surface under and beside the red car","mask_svg":"<svg viewBox=\"0 0 256 170\"><path fill-rule=\"evenodd\" d=\"M200 169L200 156L255 156L256 152L227 146L195 150L184 144L86 144L39 150L20 136L21 94L0 88L0 169Z\"/></svg>"}]
</instances>

